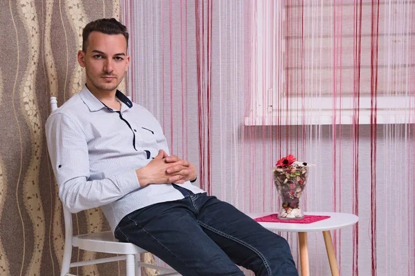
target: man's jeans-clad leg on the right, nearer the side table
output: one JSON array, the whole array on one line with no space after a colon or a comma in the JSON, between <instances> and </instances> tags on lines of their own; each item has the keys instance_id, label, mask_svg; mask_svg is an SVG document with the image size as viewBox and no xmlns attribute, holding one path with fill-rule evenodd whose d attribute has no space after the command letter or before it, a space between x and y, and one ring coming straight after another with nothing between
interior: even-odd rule
<instances>
[{"instance_id":1,"label":"man's jeans-clad leg on the right, nearer the side table","mask_svg":"<svg viewBox=\"0 0 415 276\"><path fill-rule=\"evenodd\" d=\"M196 206L198 223L235 264L255 275L298 275L286 239L216 197L201 196Z\"/></svg>"}]
</instances>

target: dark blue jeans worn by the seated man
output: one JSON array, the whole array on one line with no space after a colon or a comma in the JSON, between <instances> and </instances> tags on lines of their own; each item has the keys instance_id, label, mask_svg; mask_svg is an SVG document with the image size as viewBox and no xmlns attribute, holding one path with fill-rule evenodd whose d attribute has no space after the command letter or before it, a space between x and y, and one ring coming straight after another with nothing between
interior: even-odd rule
<instances>
[{"instance_id":1,"label":"dark blue jeans worn by the seated man","mask_svg":"<svg viewBox=\"0 0 415 276\"><path fill-rule=\"evenodd\" d=\"M115 236L185 276L243 275L235 264L255 275L298 276L286 239L205 193L136 210L120 221Z\"/></svg>"}]
</instances>

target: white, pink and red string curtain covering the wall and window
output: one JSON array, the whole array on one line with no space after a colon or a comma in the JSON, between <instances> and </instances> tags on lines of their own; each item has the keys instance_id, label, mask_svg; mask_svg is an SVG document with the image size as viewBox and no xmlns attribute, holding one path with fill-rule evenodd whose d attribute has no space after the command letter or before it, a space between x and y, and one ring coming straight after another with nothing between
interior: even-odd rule
<instances>
[{"instance_id":1,"label":"white, pink and red string curtain covering the wall and window","mask_svg":"<svg viewBox=\"0 0 415 276\"><path fill-rule=\"evenodd\" d=\"M271 171L291 153L316 165L304 210L360 217L332 233L342 275L414 275L414 1L121 3L129 91L201 188L276 212ZM308 248L329 275L320 233Z\"/></svg>"}]
</instances>

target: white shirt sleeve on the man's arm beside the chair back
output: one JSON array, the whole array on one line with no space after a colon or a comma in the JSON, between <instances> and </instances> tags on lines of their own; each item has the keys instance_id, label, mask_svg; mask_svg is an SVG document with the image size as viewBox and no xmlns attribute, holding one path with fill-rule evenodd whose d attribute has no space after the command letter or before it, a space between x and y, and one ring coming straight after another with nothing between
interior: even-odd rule
<instances>
[{"instance_id":1,"label":"white shirt sleeve on the man's arm beside the chair back","mask_svg":"<svg viewBox=\"0 0 415 276\"><path fill-rule=\"evenodd\" d=\"M54 113L46 121L50 162L59 197L71 213L110 204L140 188L135 170L89 181L86 135L68 115Z\"/></svg>"}]
</instances>

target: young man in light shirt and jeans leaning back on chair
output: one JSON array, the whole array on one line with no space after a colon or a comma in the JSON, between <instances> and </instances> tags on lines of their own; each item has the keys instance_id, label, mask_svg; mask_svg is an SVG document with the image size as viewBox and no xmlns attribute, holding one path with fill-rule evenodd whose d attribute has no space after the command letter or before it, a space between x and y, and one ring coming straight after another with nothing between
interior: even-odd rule
<instances>
[{"instance_id":1,"label":"young man in light shirt and jeans leaning back on chair","mask_svg":"<svg viewBox=\"0 0 415 276\"><path fill-rule=\"evenodd\" d=\"M116 19L86 25L77 54L86 85L46 122L63 204L100 206L114 235L182 275L298 275L286 240L192 185L196 169L169 155L158 121L117 90L129 34Z\"/></svg>"}]
</instances>

